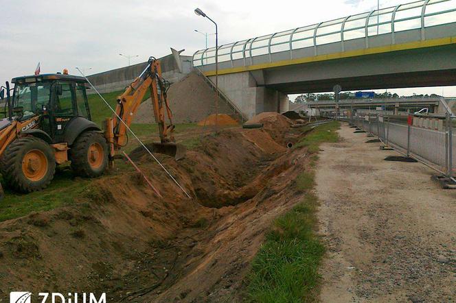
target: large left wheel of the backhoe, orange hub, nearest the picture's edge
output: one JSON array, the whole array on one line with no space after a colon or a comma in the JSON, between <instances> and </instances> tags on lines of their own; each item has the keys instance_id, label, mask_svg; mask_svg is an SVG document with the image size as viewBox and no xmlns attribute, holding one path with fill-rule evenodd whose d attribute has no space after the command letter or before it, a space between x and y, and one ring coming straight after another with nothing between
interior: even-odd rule
<instances>
[{"instance_id":1,"label":"large left wheel of the backhoe, orange hub, nearest the picture's edge","mask_svg":"<svg viewBox=\"0 0 456 303\"><path fill-rule=\"evenodd\" d=\"M52 147L32 136L18 138L8 145L1 163L6 184L22 193L45 189L56 171Z\"/></svg>"}]
</instances>

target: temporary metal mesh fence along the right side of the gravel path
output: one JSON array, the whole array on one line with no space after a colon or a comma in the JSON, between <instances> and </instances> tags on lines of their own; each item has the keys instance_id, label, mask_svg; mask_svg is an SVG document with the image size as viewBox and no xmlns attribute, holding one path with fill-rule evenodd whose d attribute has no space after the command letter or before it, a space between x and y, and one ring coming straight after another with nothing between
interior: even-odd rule
<instances>
[{"instance_id":1,"label":"temporary metal mesh fence along the right side of the gravel path","mask_svg":"<svg viewBox=\"0 0 456 303\"><path fill-rule=\"evenodd\" d=\"M378 136L386 146L456 182L456 117L452 114L413 114L407 120L383 114L355 114L338 119Z\"/></svg>"}]
</instances>

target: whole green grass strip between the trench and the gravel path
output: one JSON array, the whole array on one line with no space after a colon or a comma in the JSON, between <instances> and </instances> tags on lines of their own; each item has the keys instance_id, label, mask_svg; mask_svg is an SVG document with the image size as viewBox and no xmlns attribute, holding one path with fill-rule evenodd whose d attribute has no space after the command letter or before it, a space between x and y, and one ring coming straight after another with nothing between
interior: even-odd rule
<instances>
[{"instance_id":1,"label":"whole green grass strip between the trench and the gravel path","mask_svg":"<svg viewBox=\"0 0 456 303\"><path fill-rule=\"evenodd\" d=\"M337 129L338 122L320 125L299 144L318 152L320 143L338 140ZM318 157L311 157L312 167ZM315 234L318 206L318 199L312 193L315 172L299 174L295 186L306 195L292 210L275 219L266 234L247 276L247 302L317 302L318 268L325 248Z\"/></svg>"}]
</instances>

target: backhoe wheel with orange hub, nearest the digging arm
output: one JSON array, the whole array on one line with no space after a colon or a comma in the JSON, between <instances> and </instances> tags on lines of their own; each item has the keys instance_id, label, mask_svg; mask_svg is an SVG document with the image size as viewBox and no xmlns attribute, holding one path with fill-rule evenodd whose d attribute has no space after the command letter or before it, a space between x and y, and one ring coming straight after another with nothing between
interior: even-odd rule
<instances>
[{"instance_id":1,"label":"backhoe wheel with orange hub, nearest the digging arm","mask_svg":"<svg viewBox=\"0 0 456 303\"><path fill-rule=\"evenodd\" d=\"M108 154L108 143L100 132L84 132L71 146L71 168L82 177L98 177L108 166Z\"/></svg>"}]
</instances>

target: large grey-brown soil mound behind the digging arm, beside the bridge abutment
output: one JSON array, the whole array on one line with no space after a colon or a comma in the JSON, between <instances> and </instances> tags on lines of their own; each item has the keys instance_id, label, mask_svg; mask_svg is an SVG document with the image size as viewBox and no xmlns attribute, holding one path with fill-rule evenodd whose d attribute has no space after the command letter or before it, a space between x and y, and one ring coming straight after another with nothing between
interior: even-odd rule
<instances>
[{"instance_id":1,"label":"large grey-brown soil mound behind the digging arm, beside the bridge abutment","mask_svg":"<svg viewBox=\"0 0 456 303\"><path fill-rule=\"evenodd\" d=\"M174 123L198 122L215 112L215 93L197 73L190 73L181 81L171 84L168 101ZM219 97L218 112L233 114L233 109ZM135 123L155 123L150 99L139 106Z\"/></svg>"}]
</instances>

